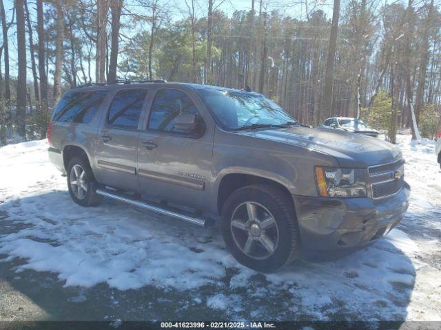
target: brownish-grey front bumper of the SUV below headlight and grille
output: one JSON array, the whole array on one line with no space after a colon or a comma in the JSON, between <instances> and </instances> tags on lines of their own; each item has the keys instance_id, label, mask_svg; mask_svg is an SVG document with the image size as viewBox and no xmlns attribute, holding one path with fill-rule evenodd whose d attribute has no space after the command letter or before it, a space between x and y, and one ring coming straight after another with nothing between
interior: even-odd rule
<instances>
[{"instance_id":1,"label":"brownish-grey front bumper of the SUV below headlight and grille","mask_svg":"<svg viewBox=\"0 0 441 330\"><path fill-rule=\"evenodd\" d=\"M322 198L294 195L300 241L305 254L342 254L358 250L387 234L409 206L404 182L393 197ZM343 253L344 254L344 253Z\"/></svg>"}]
</instances>

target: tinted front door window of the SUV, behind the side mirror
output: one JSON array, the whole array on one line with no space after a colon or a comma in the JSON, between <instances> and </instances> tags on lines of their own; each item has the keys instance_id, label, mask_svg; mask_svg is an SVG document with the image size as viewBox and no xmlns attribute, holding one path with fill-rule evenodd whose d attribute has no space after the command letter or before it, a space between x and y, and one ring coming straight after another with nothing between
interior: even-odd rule
<instances>
[{"instance_id":1,"label":"tinted front door window of the SUV, behind the side mirror","mask_svg":"<svg viewBox=\"0 0 441 330\"><path fill-rule=\"evenodd\" d=\"M150 111L149 129L184 133L174 127L174 118L181 113L191 113L199 119L199 113L189 97L176 89L161 89L154 98Z\"/></svg>"}]
</instances>

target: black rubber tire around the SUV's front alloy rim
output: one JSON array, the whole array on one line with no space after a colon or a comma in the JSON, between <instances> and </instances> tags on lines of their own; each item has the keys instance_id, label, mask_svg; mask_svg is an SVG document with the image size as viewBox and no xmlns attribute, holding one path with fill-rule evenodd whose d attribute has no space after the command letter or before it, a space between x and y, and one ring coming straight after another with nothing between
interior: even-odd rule
<instances>
[{"instance_id":1,"label":"black rubber tire around the SUV's front alloy rim","mask_svg":"<svg viewBox=\"0 0 441 330\"><path fill-rule=\"evenodd\" d=\"M265 211L268 211L269 215L272 216L269 218L276 221L274 226L276 226L278 239L274 240L277 241L277 243L272 245L275 247L274 252L269 252L272 253L269 256L256 259L256 256L247 255L244 252L246 248L240 248L239 243L237 243L238 238L236 236L238 236L238 234L237 232L234 234L236 228L232 226L232 217L236 217L236 212L239 212L238 210L240 210L244 204L247 209L246 202L255 203L254 205L256 206L262 206L261 210L263 210L263 214L267 214ZM243 215L243 217L245 217L245 215ZM250 220L248 219L247 221L247 228L249 228L249 223L252 222L249 222ZM221 229L225 245L234 258L239 263L258 272L274 272L280 267L291 263L298 256L300 238L294 205L289 196L275 186L257 184L245 186L234 191L223 206ZM239 229L245 230L243 228ZM258 232L260 232L260 230L258 230ZM265 230L263 230L263 234L265 234ZM245 230L245 235L248 235L245 236L247 239L252 235L249 229ZM254 237L254 239L256 239L256 237ZM274 241L272 243L274 243ZM254 250L262 250L262 248L264 248L263 244L259 241L252 244L254 244ZM256 244L258 246L256 246Z\"/></svg>"}]
</instances>

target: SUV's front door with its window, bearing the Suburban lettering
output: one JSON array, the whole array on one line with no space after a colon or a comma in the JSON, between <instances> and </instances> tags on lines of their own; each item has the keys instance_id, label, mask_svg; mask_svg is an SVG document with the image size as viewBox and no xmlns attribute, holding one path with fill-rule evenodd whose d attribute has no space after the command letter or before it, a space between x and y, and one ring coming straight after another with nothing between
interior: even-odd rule
<instances>
[{"instance_id":1,"label":"SUV's front door with its window, bearing the Suburban lettering","mask_svg":"<svg viewBox=\"0 0 441 330\"><path fill-rule=\"evenodd\" d=\"M194 131L174 127L181 113L196 116ZM205 129L200 111L184 91L162 88L156 92L147 129L139 135L139 190L147 197L209 207L213 133Z\"/></svg>"}]
</instances>

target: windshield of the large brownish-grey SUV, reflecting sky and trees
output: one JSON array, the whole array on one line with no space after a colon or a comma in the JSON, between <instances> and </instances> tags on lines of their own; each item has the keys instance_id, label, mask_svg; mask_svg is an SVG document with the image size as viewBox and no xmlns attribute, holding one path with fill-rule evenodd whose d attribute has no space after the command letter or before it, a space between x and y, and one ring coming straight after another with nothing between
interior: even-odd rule
<instances>
[{"instance_id":1,"label":"windshield of the large brownish-grey SUV, reflecting sky and trees","mask_svg":"<svg viewBox=\"0 0 441 330\"><path fill-rule=\"evenodd\" d=\"M294 124L275 102L259 94L223 89L199 89L198 93L212 109L214 116L227 129Z\"/></svg>"}]
</instances>

